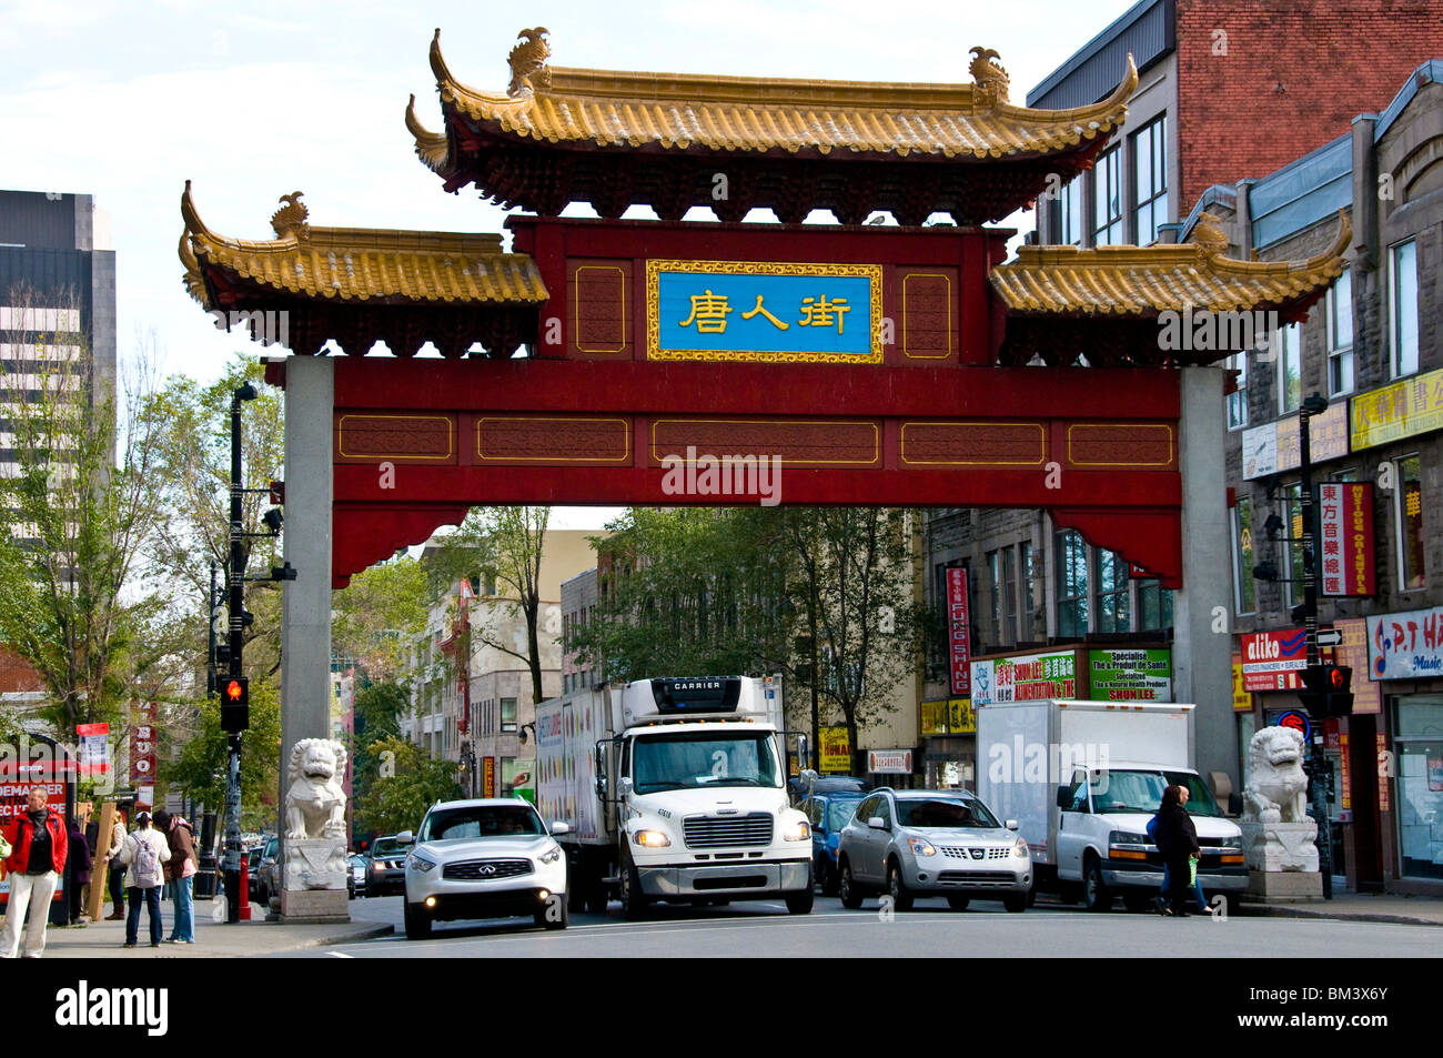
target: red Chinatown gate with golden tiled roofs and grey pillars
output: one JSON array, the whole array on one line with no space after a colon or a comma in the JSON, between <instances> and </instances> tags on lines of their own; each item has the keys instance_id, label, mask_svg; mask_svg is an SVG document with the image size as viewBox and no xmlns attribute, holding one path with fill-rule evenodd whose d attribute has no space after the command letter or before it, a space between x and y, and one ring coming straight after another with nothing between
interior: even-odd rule
<instances>
[{"instance_id":1,"label":"red Chinatown gate with golden tiled roofs and grey pillars","mask_svg":"<svg viewBox=\"0 0 1443 1058\"><path fill-rule=\"evenodd\" d=\"M329 732L332 587L470 505L758 502L675 494L662 460L693 450L779 458L786 504L1045 508L1118 551L1180 592L1196 764L1237 778L1216 631L1231 380L1208 367L1231 349L1165 349L1159 316L1302 319L1342 270L1346 222L1309 261L1231 260L1203 215L1183 245L1023 247L1004 264L1012 232L983 225L1091 167L1137 87L1130 58L1105 100L1042 111L1007 101L983 49L961 85L548 56L545 30L524 30L508 89L483 92L450 74L437 32L442 131L405 108L444 191L527 211L506 221L509 253L496 234L312 227L299 192L274 240L229 238L186 185L189 292L296 354L267 372L286 388L297 570L283 751ZM571 202L599 219L561 218ZM620 219L632 205L659 219ZM684 221L697 206L716 219ZM745 224L753 208L779 224ZM838 224L804 225L812 209ZM877 212L898 224L866 224ZM938 214L952 224L924 227ZM377 342L394 358L367 357ZM427 342L440 359L414 358Z\"/></svg>"}]
</instances>

